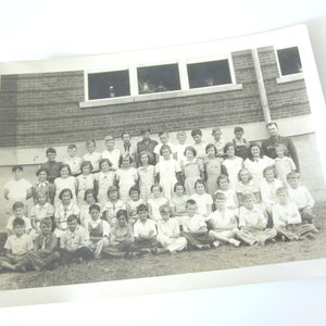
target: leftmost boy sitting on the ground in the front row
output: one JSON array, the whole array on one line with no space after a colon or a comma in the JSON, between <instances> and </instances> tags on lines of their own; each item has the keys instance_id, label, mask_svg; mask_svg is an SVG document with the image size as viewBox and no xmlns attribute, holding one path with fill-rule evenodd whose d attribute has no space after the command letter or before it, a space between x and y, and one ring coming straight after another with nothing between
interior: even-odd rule
<instances>
[{"instance_id":1,"label":"leftmost boy sitting on the ground in the front row","mask_svg":"<svg viewBox=\"0 0 326 326\"><path fill-rule=\"evenodd\" d=\"M25 234L25 222L21 217L13 221L13 234L8 237L5 243L5 256L0 259L0 271L5 267L10 271L25 272L26 252L33 249L33 239Z\"/></svg>"}]
</instances>

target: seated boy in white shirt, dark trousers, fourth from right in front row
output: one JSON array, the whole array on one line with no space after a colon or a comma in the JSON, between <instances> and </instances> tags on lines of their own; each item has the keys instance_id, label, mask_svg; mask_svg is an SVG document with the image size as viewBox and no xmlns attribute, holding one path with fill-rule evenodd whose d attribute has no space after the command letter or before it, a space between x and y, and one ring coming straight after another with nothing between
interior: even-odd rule
<instances>
[{"instance_id":1,"label":"seated boy in white shirt, dark trousers, fourth from right in front row","mask_svg":"<svg viewBox=\"0 0 326 326\"><path fill-rule=\"evenodd\" d=\"M183 220L181 236L187 239L190 248L210 249L214 242L214 238L208 234L204 218L197 214L197 203L193 199L188 199L186 202L187 216Z\"/></svg>"}]
</instances>

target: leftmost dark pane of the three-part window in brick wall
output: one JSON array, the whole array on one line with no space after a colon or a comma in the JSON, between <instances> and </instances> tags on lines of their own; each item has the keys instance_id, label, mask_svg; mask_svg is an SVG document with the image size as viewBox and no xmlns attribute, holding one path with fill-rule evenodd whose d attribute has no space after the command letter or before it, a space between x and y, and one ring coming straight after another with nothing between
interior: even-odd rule
<instances>
[{"instance_id":1,"label":"leftmost dark pane of the three-part window in brick wall","mask_svg":"<svg viewBox=\"0 0 326 326\"><path fill-rule=\"evenodd\" d=\"M88 99L108 99L130 95L129 72L88 74Z\"/></svg>"}]
</instances>

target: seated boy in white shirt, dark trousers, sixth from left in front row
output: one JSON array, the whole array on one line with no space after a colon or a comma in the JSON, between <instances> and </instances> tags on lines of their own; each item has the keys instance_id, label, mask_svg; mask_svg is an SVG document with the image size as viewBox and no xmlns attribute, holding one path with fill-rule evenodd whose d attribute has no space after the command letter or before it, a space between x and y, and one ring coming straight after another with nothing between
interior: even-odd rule
<instances>
[{"instance_id":1,"label":"seated boy in white shirt, dark trousers, sixth from left in front row","mask_svg":"<svg viewBox=\"0 0 326 326\"><path fill-rule=\"evenodd\" d=\"M155 253L158 248L156 240L156 223L148 218L148 209L146 204L140 204L137 209L139 216L138 221L134 224L134 239L131 243L131 251L140 253Z\"/></svg>"}]
</instances>

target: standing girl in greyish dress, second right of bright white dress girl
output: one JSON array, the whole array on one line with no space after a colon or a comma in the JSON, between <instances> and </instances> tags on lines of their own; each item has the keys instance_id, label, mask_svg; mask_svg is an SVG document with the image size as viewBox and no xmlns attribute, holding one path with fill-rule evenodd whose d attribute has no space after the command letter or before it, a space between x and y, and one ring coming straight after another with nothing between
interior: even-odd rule
<instances>
[{"instance_id":1,"label":"standing girl in greyish dress, second right of bright white dress girl","mask_svg":"<svg viewBox=\"0 0 326 326\"><path fill-rule=\"evenodd\" d=\"M217 190L217 177L224 173L225 167L222 165L223 160L217 156L216 147L213 143L206 146L206 158L204 160L204 175L206 180L206 191L213 197Z\"/></svg>"}]
</instances>

